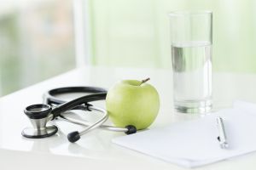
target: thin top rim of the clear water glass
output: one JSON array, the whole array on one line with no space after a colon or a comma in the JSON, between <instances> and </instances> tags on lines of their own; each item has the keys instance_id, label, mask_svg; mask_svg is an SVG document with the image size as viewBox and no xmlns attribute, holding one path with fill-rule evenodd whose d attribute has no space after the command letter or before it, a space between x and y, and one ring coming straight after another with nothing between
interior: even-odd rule
<instances>
[{"instance_id":1,"label":"thin top rim of the clear water glass","mask_svg":"<svg viewBox=\"0 0 256 170\"><path fill-rule=\"evenodd\" d=\"M176 10L169 13L169 16L187 16L212 14L211 10Z\"/></svg>"}]
</instances>

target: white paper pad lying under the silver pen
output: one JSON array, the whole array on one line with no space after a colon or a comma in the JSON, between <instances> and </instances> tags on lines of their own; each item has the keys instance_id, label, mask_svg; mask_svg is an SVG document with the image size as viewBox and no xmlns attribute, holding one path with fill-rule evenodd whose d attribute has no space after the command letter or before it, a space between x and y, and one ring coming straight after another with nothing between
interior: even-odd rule
<instances>
[{"instance_id":1,"label":"white paper pad lying under the silver pen","mask_svg":"<svg viewBox=\"0 0 256 170\"><path fill-rule=\"evenodd\" d=\"M224 119L228 149L219 146L217 116ZM255 129L256 105L239 101L231 109L118 137L113 143L182 167L200 167L255 151Z\"/></svg>"}]
</instances>

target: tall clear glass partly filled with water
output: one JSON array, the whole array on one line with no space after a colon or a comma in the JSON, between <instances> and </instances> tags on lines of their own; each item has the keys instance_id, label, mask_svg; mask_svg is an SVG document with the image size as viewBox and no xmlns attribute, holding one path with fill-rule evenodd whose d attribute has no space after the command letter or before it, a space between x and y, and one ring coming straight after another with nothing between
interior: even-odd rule
<instances>
[{"instance_id":1,"label":"tall clear glass partly filled with water","mask_svg":"<svg viewBox=\"0 0 256 170\"><path fill-rule=\"evenodd\" d=\"M212 109L212 12L175 11L169 16L175 109L207 113Z\"/></svg>"}]
</instances>

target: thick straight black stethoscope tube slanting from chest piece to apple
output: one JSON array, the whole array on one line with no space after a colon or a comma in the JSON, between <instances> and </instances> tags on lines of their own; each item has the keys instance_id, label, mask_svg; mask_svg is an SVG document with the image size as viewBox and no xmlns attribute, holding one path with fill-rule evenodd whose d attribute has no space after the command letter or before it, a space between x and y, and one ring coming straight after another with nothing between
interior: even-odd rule
<instances>
[{"instance_id":1,"label":"thick straight black stethoscope tube slanting from chest piece to apple","mask_svg":"<svg viewBox=\"0 0 256 170\"><path fill-rule=\"evenodd\" d=\"M55 119L55 117L57 117L57 116L60 116L62 112L72 110L73 108L77 107L78 105L84 104L87 106L87 110L88 110L88 108L89 108L88 106L90 104L88 104L87 102L106 99L106 96L107 96L107 93L90 94L90 95L82 96L78 99L73 99L72 101L66 102L64 104L57 105L51 111L51 113L53 114L53 119ZM90 110L88 110L88 111L90 111Z\"/></svg>"}]
</instances>

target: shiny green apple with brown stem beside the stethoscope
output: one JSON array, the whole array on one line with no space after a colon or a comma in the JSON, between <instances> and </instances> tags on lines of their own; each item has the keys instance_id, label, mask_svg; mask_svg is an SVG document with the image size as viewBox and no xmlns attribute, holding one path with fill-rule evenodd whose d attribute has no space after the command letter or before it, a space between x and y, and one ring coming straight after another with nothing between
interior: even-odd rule
<instances>
[{"instance_id":1,"label":"shiny green apple with brown stem beside the stethoscope","mask_svg":"<svg viewBox=\"0 0 256 170\"><path fill-rule=\"evenodd\" d=\"M149 127L160 109L156 89L143 81L124 80L108 90L106 107L115 126L133 125L137 130Z\"/></svg>"}]
</instances>

